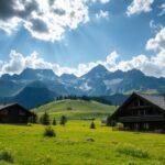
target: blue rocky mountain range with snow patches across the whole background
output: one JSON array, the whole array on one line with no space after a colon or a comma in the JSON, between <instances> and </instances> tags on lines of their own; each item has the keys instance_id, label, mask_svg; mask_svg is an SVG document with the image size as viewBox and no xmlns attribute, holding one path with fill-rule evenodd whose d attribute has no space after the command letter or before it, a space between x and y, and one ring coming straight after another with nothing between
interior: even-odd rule
<instances>
[{"instance_id":1,"label":"blue rocky mountain range with snow patches across the whole background","mask_svg":"<svg viewBox=\"0 0 165 165\"><path fill-rule=\"evenodd\" d=\"M14 101L29 109L62 95L118 98L112 96L129 95L134 90L163 94L165 78L146 76L138 69L112 73L102 65L96 66L81 77L73 74L57 76L52 69L32 68L24 69L20 75L4 74L0 77L0 102ZM118 100L112 102L114 101Z\"/></svg>"}]
</instances>

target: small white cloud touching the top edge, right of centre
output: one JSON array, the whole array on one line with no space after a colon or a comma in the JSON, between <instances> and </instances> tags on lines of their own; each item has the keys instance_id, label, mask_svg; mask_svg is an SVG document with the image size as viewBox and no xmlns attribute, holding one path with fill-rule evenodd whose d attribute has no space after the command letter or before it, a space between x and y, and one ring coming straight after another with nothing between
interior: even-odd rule
<instances>
[{"instance_id":1,"label":"small white cloud touching the top edge, right of centre","mask_svg":"<svg viewBox=\"0 0 165 165\"><path fill-rule=\"evenodd\" d=\"M128 7L127 14L131 16L135 13L150 12L152 10L152 4L154 0L133 0L133 2Z\"/></svg>"}]
</instances>

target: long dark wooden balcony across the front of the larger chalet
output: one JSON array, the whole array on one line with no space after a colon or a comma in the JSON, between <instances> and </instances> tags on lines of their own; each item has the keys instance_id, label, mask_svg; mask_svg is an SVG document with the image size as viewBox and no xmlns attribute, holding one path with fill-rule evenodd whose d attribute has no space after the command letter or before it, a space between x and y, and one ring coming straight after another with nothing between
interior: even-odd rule
<instances>
[{"instance_id":1,"label":"long dark wooden balcony across the front of the larger chalet","mask_svg":"<svg viewBox=\"0 0 165 165\"><path fill-rule=\"evenodd\" d=\"M165 121L163 116L130 116L119 117L119 122Z\"/></svg>"}]
</instances>

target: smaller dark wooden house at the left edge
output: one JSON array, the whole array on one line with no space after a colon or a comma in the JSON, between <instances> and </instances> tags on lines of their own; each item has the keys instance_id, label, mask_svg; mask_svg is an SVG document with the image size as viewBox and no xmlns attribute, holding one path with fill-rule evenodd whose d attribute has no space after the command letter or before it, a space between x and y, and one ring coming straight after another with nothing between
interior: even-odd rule
<instances>
[{"instance_id":1,"label":"smaller dark wooden house at the left edge","mask_svg":"<svg viewBox=\"0 0 165 165\"><path fill-rule=\"evenodd\" d=\"M28 123L35 114L18 103L0 105L0 123Z\"/></svg>"}]
</instances>

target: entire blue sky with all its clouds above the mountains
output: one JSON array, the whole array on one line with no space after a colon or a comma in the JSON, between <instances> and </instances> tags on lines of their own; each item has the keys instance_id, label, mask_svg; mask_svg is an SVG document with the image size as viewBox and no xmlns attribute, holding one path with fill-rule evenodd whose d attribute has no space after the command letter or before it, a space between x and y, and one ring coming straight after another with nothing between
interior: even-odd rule
<instances>
[{"instance_id":1,"label":"entire blue sky with all its clouds above the mountains","mask_svg":"<svg viewBox=\"0 0 165 165\"><path fill-rule=\"evenodd\" d=\"M165 77L164 0L0 0L0 75L98 64Z\"/></svg>"}]
</instances>

